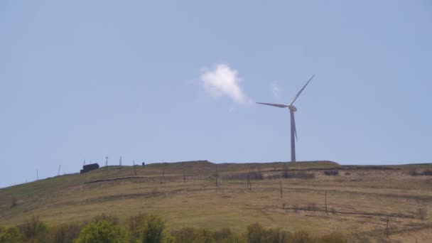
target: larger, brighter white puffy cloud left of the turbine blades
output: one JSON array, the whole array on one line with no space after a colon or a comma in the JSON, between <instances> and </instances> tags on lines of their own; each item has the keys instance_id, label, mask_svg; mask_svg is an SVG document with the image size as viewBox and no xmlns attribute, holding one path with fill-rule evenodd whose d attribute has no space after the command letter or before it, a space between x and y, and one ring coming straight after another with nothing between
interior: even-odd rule
<instances>
[{"instance_id":1,"label":"larger, brighter white puffy cloud left of the turbine blades","mask_svg":"<svg viewBox=\"0 0 432 243\"><path fill-rule=\"evenodd\" d=\"M205 91L214 97L227 96L242 104L250 102L240 87L242 79L237 71L226 64L218 64L213 70L203 70L200 78Z\"/></svg>"}]
</instances>

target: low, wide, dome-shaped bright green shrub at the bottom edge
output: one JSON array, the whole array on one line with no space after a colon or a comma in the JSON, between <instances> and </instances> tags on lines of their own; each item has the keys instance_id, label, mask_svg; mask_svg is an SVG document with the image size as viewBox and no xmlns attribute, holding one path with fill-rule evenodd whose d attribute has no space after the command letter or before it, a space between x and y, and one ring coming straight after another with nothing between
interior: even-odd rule
<instances>
[{"instance_id":1,"label":"low, wide, dome-shaped bright green shrub at the bottom edge","mask_svg":"<svg viewBox=\"0 0 432 243\"><path fill-rule=\"evenodd\" d=\"M81 231L76 243L124 242L126 233L121 227L99 220L88 223Z\"/></svg>"}]
</instances>

